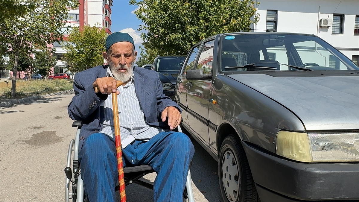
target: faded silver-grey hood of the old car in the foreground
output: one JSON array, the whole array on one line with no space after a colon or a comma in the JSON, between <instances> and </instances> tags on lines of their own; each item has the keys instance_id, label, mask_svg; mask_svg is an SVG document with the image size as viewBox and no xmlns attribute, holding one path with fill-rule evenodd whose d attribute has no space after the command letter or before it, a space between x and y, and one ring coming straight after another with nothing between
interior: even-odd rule
<instances>
[{"instance_id":1,"label":"faded silver-grey hood of the old car in the foreground","mask_svg":"<svg viewBox=\"0 0 359 202\"><path fill-rule=\"evenodd\" d=\"M287 107L303 121L307 130L359 128L358 76L228 76Z\"/></svg>"}]
</instances>

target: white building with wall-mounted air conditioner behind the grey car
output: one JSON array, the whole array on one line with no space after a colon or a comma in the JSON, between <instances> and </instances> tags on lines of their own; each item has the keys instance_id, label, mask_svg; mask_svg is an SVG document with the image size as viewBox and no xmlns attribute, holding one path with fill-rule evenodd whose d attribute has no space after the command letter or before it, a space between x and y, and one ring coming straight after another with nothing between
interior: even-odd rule
<instances>
[{"instance_id":1,"label":"white building with wall-mounted air conditioner behind the grey car","mask_svg":"<svg viewBox=\"0 0 359 202\"><path fill-rule=\"evenodd\" d=\"M252 25L254 32L313 34L330 43L359 66L359 0L256 2L260 3L256 6L260 21Z\"/></svg>"}]
</instances>

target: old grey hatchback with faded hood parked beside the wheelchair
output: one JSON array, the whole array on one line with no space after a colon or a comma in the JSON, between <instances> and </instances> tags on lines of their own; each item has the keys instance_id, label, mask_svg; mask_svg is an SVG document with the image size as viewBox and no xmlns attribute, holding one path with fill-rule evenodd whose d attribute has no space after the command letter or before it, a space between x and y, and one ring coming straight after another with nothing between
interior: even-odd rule
<instances>
[{"instance_id":1,"label":"old grey hatchback with faded hood parked beside the wheelchair","mask_svg":"<svg viewBox=\"0 0 359 202\"><path fill-rule=\"evenodd\" d=\"M189 51L176 101L219 162L225 202L359 200L359 67L321 38L209 37Z\"/></svg>"}]
</instances>

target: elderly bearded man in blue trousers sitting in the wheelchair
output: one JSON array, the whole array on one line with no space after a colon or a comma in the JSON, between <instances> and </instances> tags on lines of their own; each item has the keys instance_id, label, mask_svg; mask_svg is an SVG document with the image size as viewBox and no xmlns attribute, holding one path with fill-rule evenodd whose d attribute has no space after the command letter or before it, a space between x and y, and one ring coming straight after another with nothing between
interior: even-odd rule
<instances>
[{"instance_id":1,"label":"elderly bearded man in blue trousers sitting in the wheelchair","mask_svg":"<svg viewBox=\"0 0 359 202\"><path fill-rule=\"evenodd\" d=\"M75 75L69 116L81 120L79 161L90 202L115 201L118 180L111 93L116 92L124 166L150 165L157 173L154 201L182 201L194 147L183 133L173 132L181 109L163 94L158 74L136 67L137 51L127 33L106 39L108 65ZM116 89L118 81L127 82ZM95 93L98 86L100 92ZM165 122L167 120L167 123Z\"/></svg>"}]
</instances>

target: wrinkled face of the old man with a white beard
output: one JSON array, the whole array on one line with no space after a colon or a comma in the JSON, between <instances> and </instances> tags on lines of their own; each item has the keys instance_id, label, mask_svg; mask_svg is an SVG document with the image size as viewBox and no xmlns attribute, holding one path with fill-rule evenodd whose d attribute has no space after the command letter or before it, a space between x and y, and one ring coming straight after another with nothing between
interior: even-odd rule
<instances>
[{"instance_id":1,"label":"wrinkled face of the old man with a white beard","mask_svg":"<svg viewBox=\"0 0 359 202\"><path fill-rule=\"evenodd\" d=\"M117 80L126 82L131 78L137 56L137 51L133 52L132 43L117 42L109 48L108 54L104 52L103 56L107 58L111 73Z\"/></svg>"}]
</instances>

